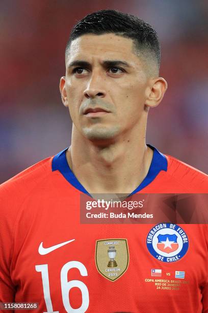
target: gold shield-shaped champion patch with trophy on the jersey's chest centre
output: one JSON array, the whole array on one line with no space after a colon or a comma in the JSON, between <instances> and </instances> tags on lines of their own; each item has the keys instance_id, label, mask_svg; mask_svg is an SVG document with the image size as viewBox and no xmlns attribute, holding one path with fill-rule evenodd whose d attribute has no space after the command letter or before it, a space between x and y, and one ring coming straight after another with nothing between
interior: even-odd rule
<instances>
[{"instance_id":1,"label":"gold shield-shaped champion patch with trophy on the jersey's chest centre","mask_svg":"<svg viewBox=\"0 0 208 313\"><path fill-rule=\"evenodd\" d=\"M120 278L129 263L127 239L96 240L95 263L105 278L111 281Z\"/></svg>"}]
</instances>

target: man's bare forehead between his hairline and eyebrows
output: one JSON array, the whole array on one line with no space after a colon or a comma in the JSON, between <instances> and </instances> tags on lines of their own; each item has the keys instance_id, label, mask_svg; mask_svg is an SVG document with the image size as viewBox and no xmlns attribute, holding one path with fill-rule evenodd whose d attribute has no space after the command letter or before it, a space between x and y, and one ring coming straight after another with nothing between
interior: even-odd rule
<instances>
[{"instance_id":1,"label":"man's bare forehead between his hairline and eyebrows","mask_svg":"<svg viewBox=\"0 0 208 313\"><path fill-rule=\"evenodd\" d=\"M138 61L134 53L134 43L130 38L115 34L92 35L86 34L71 42L67 53L67 63L74 59L122 59Z\"/></svg>"}]
</instances>

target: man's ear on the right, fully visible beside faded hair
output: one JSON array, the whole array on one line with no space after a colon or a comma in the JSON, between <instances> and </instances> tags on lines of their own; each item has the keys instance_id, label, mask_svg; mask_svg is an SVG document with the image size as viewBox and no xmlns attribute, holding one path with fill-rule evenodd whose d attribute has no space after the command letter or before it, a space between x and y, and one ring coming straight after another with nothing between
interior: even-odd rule
<instances>
[{"instance_id":1,"label":"man's ear on the right, fully visible beside faded hair","mask_svg":"<svg viewBox=\"0 0 208 313\"><path fill-rule=\"evenodd\" d=\"M167 90L168 84L163 77L155 78L151 81L150 92L145 101L145 106L155 107L163 99L163 96Z\"/></svg>"}]
</instances>

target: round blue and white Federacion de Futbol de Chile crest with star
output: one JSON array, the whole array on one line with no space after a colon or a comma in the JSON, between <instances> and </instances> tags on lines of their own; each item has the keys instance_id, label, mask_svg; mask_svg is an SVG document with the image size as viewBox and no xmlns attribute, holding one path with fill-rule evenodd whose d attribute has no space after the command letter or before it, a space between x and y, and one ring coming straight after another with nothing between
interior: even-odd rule
<instances>
[{"instance_id":1,"label":"round blue and white Federacion de Futbol de Chile crest with star","mask_svg":"<svg viewBox=\"0 0 208 313\"><path fill-rule=\"evenodd\" d=\"M176 224L160 223L147 235L147 249L162 262L180 260L188 251L189 240L185 231Z\"/></svg>"}]
</instances>

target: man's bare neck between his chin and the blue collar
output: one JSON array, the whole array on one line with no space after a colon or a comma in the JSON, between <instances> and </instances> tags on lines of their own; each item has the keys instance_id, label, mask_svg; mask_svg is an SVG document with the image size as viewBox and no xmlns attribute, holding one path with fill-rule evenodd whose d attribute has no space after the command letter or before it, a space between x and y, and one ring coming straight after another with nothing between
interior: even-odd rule
<instances>
[{"instance_id":1,"label":"man's bare neck between his chin and the blue collar","mask_svg":"<svg viewBox=\"0 0 208 313\"><path fill-rule=\"evenodd\" d=\"M90 194L131 193L147 175L152 156L145 133L128 134L100 146L84 138L75 127L66 153L71 170Z\"/></svg>"}]
</instances>

